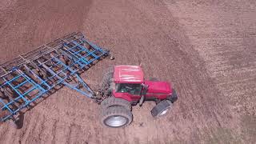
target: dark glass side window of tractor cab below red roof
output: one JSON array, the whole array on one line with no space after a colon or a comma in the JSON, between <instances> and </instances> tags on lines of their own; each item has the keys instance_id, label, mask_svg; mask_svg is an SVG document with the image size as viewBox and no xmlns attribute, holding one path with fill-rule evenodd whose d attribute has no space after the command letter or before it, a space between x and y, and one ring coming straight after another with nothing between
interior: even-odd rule
<instances>
[{"instance_id":1,"label":"dark glass side window of tractor cab below red roof","mask_svg":"<svg viewBox=\"0 0 256 144\"><path fill-rule=\"evenodd\" d=\"M116 83L115 90L117 93L139 95L142 90L142 85L137 83Z\"/></svg>"}]
</instances>

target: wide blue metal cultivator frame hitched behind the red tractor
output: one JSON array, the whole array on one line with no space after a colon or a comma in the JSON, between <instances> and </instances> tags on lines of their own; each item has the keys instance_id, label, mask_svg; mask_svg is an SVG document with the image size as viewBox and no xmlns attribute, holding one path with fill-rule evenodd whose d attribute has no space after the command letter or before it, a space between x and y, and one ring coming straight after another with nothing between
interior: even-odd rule
<instances>
[{"instance_id":1,"label":"wide blue metal cultivator frame hitched behind the red tractor","mask_svg":"<svg viewBox=\"0 0 256 144\"><path fill-rule=\"evenodd\" d=\"M15 114L62 86L96 98L79 74L108 54L108 50L89 42L82 33L72 33L2 63L0 121L14 119Z\"/></svg>"}]
</instances>

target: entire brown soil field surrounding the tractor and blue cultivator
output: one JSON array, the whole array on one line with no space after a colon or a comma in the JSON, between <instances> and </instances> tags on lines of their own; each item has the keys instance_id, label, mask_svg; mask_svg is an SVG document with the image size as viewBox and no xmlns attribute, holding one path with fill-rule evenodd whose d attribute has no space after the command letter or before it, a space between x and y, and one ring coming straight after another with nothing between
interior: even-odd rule
<instances>
[{"instance_id":1,"label":"entire brown soil field surrounding the tractor and blue cultivator","mask_svg":"<svg viewBox=\"0 0 256 144\"><path fill-rule=\"evenodd\" d=\"M1 62L82 31L115 55L82 74L90 86L108 66L142 62L146 78L173 82L179 99L164 118L152 118L148 102L130 126L109 129L97 104L63 88L26 112L22 129L2 124L0 142L254 143L255 15L253 0L3 0Z\"/></svg>"}]
</instances>

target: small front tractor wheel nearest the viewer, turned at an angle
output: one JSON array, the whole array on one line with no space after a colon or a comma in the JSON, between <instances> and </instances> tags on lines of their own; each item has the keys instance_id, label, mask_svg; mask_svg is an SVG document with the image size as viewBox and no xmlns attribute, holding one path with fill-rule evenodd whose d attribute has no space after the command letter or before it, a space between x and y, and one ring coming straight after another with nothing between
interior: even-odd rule
<instances>
[{"instance_id":1,"label":"small front tractor wheel nearest the viewer, turned at an angle","mask_svg":"<svg viewBox=\"0 0 256 144\"><path fill-rule=\"evenodd\" d=\"M154 106L154 108L151 110L151 114L154 118L161 117L162 115L165 115L168 110L170 110L171 106L172 102L169 100L163 100Z\"/></svg>"}]
</instances>

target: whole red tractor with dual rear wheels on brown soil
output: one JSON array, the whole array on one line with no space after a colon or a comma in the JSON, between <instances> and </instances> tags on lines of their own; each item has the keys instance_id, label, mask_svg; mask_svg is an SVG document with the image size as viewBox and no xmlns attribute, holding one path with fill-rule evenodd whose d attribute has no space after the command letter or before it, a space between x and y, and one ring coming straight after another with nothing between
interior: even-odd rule
<instances>
[{"instance_id":1,"label":"whole red tractor with dual rear wheels on brown soil","mask_svg":"<svg viewBox=\"0 0 256 144\"><path fill-rule=\"evenodd\" d=\"M160 117L177 101L178 97L169 82L156 78L144 80L140 66L114 66L107 70L102 79L99 95L106 97L102 102L101 121L104 126L122 127L132 122L131 106L145 101L154 101L153 117Z\"/></svg>"}]
</instances>

